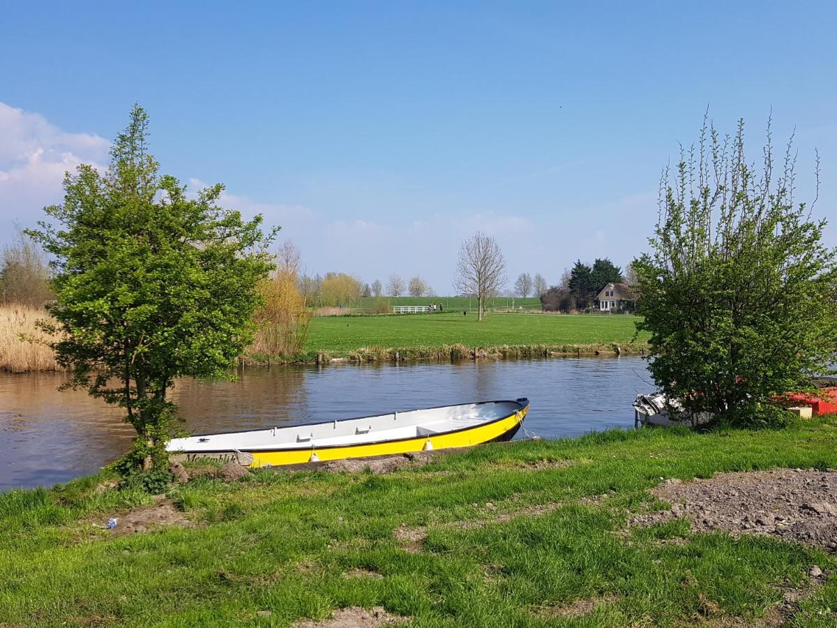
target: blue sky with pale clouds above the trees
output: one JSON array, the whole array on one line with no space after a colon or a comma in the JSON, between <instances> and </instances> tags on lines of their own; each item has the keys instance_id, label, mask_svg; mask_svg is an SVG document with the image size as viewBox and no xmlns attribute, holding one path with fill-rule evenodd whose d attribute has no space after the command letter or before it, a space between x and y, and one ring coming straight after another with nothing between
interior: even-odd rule
<instances>
[{"instance_id":1,"label":"blue sky with pale clouds above the trees","mask_svg":"<svg viewBox=\"0 0 837 628\"><path fill-rule=\"evenodd\" d=\"M800 198L819 147L837 219L833 3L135 4L4 6L0 241L106 162L135 101L164 171L224 183L311 272L447 293L475 229L512 281L624 265L707 105L753 158L771 109L778 143L795 128Z\"/></svg>"}]
</instances>

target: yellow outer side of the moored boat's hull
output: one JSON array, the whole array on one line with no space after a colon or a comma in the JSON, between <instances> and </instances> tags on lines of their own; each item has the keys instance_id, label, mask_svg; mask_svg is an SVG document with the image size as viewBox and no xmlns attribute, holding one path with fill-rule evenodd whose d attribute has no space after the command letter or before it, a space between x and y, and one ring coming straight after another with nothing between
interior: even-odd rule
<instances>
[{"instance_id":1,"label":"yellow outer side of the moored boat's hull","mask_svg":"<svg viewBox=\"0 0 837 628\"><path fill-rule=\"evenodd\" d=\"M523 404L515 412L480 425L433 435L416 436L398 440L351 445L313 446L300 449L276 450L201 450L182 451L178 458L185 461L221 460L236 461L249 467L302 465L309 462L344 460L347 458L372 458L397 456L419 451L470 447L490 442L511 440L520 430L529 411L529 404Z\"/></svg>"}]
</instances>

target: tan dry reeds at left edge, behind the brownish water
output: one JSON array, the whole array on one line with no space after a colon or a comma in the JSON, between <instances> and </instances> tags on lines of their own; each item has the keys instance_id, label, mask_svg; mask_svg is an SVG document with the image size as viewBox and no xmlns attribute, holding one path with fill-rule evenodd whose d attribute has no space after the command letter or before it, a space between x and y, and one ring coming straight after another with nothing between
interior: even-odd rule
<instances>
[{"instance_id":1,"label":"tan dry reeds at left edge, behind the brownish water","mask_svg":"<svg viewBox=\"0 0 837 628\"><path fill-rule=\"evenodd\" d=\"M12 373L64 370L35 322L48 318L43 308L0 305L0 370Z\"/></svg>"}]
</instances>

